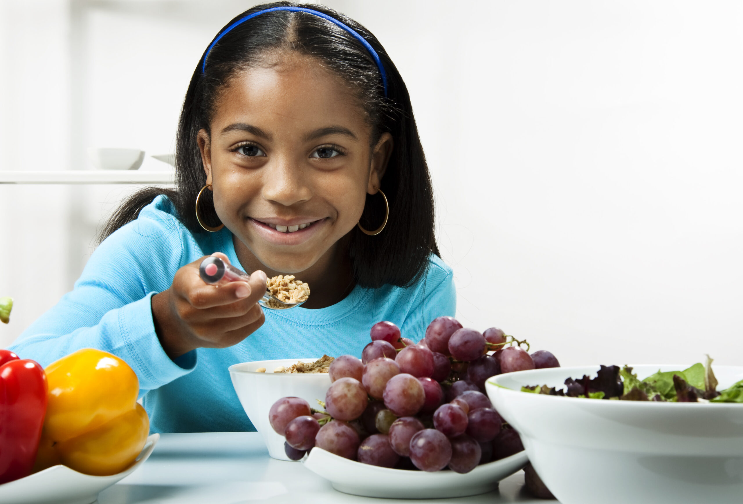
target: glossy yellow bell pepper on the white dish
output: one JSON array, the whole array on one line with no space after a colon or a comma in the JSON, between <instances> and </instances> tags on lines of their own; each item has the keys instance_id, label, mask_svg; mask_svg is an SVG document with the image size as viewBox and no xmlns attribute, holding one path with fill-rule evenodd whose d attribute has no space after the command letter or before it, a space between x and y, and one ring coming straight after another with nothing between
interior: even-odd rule
<instances>
[{"instance_id":1,"label":"glossy yellow bell pepper on the white dish","mask_svg":"<svg viewBox=\"0 0 743 504\"><path fill-rule=\"evenodd\" d=\"M49 395L36 471L62 463L108 476L131 465L149 434L132 368L110 353L85 348L45 371Z\"/></svg>"}]
</instances>

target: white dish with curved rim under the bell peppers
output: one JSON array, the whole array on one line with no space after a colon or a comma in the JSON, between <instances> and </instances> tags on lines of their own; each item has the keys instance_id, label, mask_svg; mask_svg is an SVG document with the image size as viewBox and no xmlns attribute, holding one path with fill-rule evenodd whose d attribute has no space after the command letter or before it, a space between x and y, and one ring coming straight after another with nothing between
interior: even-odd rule
<instances>
[{"instance_id":1,"label":"white dish with curved rim under the bell peppers","mask_svg":"<svg viewBox=\"0 0 743 504\"><path fill-rule=\"evenodd\" d=\"M111 476L82 474L65 465L53 465L44 471L0 485L0 503L7 504L90 504L98 494L132 474L152 454L160 434L152 434L134 464Z\"/></svg>"}]
</instances>

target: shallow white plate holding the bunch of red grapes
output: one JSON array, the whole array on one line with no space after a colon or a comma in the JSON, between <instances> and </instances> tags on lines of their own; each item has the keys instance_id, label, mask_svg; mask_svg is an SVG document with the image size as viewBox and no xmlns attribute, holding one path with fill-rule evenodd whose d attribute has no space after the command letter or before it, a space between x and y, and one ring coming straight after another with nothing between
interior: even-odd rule
<instances>
[{"instance_id":1,"label":"shallow white plate holding the bunch of red grapes","mask_svg":"<svg viewBox=\"0 0 743 504\"><path fill-rule=\"evenodd\" d=\"M344 494L385 499L453 499L485 494L498 488L498 482L519 471L528 462L526 453L478 465L472 471L408 471L362 464L312 448L303 459L305 467L329 480Z\"/></svg>"}]
</instances>

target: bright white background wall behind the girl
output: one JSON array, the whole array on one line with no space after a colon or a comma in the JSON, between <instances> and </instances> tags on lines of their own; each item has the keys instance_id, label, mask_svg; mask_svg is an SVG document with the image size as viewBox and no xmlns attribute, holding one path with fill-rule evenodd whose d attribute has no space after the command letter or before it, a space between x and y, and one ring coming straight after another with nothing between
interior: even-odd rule
<instances>
[{"instance_id":1,"label":"bright white background wall behind the girl","mask_svg":"<svg viewBox=\"0 0 743 504\"><path fill-rule=\"evenodd\" d=\"M463 324L563 365L743 363L740 2L326 3L406 79ZM250 4L1 0L0 169L172 151L201 52ZM132 189L0 186L0 346L71 288Z\"/></svg>"}]
</instances>

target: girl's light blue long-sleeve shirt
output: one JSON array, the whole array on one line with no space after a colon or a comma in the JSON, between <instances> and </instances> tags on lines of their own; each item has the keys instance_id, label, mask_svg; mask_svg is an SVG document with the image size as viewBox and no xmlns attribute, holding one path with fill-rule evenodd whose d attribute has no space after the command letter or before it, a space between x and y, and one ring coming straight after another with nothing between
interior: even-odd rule
<instances>
[{"instance_id":1,"label":"girl's light blue long-sleeve shirt","mask_svg":"<svg viewBox=\"0 0 743 504\"><path fill-rule=\"evenodd\" d=\"M74 289L10 349L44 367L80 348L119 356L137 373L152 432L255 431L230 382L230 365L324 353L360 357L378 321L395 322L404 337L418 341L430 321L455 312L452 270L431 255L412 287L356 287L319 310L264 310L265 324L241 343L171 360L155 334L150 300L170 287L181 266L213 252L242 267L227 228L192 235L170 200L158 196L100 244Z\"/></svg>"}]
</instances>

